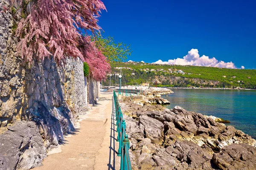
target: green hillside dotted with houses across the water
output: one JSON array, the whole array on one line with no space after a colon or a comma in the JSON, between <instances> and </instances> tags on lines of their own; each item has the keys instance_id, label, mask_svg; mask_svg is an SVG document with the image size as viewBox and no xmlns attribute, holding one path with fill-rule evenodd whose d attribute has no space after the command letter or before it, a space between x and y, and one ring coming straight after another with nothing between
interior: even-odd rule
<instances>
[{"instance_id":1,"label":"green hillside dotted with houses across the water","mask_svg":"<svg viewBox=\"0 0 256 170\"><path fill-rule=\"evenodd\" d=\"M116 75L122 68L126 85L148 82L169 87L212 87L256 89L256 70L202 67L191 65L159 65L143 62L112 62L111 84L118 84ZM116 74L116 75L115 75ZM108 76L105 85L109 85Z\"/></svg>"}]
</instances>

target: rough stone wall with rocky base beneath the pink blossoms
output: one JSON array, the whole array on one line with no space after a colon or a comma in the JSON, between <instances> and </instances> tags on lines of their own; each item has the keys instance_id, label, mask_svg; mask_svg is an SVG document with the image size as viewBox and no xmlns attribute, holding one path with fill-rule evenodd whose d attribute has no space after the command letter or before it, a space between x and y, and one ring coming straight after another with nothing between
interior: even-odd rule
<instances>
[{"instance_id":1,"label":"rough stone wall with rocky base beneath the pink blossoms","mask_svg":"<svg viewBox=\"0 0 256 170\"><path fill-rule=\"evenodd\" d=\"M16 56L9 7L0 0L0 170L30 169L75 130L87 108L86 86L80 59L69 58L61 67L53 58L28 64ZM6 146L16 148L14 153L6 154Z\"/></svg>"}]
</instances>

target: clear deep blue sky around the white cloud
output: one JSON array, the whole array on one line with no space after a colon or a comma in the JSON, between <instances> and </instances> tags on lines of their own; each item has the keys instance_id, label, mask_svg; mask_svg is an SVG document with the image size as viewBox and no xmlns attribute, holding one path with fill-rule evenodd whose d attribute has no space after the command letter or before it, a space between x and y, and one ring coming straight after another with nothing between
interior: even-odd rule
<instances>
[{"instance_id":1,"label":"clear deep blue sky around the white cloud","mask_svg":"<svg viewBox=\"0 0 256 170\"><path fill-rule=\"evenodd\" d=\"M200 57L256 68L255 0L102 2L108 11L102 11L99 25L105 36L131 44L128 60L168 61L195 48Z\"/></svg>"}]
</instances>

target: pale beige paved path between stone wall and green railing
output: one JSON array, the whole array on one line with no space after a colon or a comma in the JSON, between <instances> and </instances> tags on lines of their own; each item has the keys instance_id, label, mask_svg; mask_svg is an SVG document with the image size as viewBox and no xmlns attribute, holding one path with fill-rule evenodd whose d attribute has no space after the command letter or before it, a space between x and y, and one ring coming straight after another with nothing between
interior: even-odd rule
<instances>
[{"instance_id":1,"label":"pale beige paved path between stone wall and green railing","mask_svg":"<svg viewBox=\"0 0 256 170\"><path fill-rule=\"evenodd\" d=\"M33 170L119 170L112 96L112 92L102 92L98 105L82 116L76 132L65 137L61 152L50 151L54 154Z\"/></svg>"}]
</instances>

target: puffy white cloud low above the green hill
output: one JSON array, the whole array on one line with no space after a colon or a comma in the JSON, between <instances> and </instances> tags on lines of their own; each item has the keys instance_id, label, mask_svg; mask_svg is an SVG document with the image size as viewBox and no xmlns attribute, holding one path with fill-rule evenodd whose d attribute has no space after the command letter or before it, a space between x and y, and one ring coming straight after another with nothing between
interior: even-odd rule
<instances>
[{"instance_id":1,"label":"puffy white cloud low above the green hill","mask_svg":"<svg viewBox=\"0 0 256 170\"><path fill-rule=\"evenodd\" d=\"M158 60L156 64L170 64L170 65L196 65L207 67L220 67L220 68L236 68L233 62L218 61L215 57L201 56L198 49L192 48L183 58L169 59L168 61ZM243 67L243 66L242 66ZM242 68L241 67L241 68Z\"/></svg>"}]
</instances>

